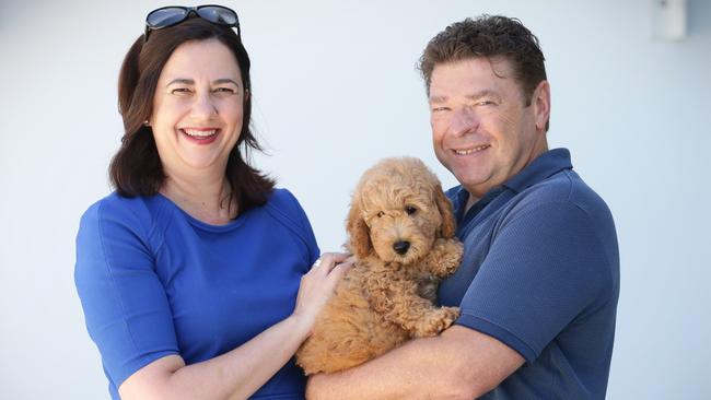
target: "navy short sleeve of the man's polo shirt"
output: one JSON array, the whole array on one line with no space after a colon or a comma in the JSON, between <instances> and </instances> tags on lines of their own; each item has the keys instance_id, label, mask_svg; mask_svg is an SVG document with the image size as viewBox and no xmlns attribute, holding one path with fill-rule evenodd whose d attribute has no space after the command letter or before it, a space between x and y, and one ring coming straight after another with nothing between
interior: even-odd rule
<instances>
[{"instance_id":1,"label":"navy short sleeve of the man's polo shirt","mask_svg":"<svg viewBox=\"0 0 711 400\"><path fill-rule=\"evenodd\" d=\"M585 211L543 204L511 215L468 287L457 325L497 338L533 362L611 293L609 262Z\"/></svg>"}]
</instances>

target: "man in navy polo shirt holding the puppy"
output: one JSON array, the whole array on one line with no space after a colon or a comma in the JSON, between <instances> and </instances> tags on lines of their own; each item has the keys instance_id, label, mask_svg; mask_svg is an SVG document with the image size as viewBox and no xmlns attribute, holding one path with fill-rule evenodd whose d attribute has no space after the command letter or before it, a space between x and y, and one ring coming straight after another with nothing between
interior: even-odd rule
<instances>
[{"instance_id":1,"label":"man in navy polo shirt holding the puppy","mask_svg":"<svg viewBox=\"0 0 711 400\"><path fill-rule=\"evenodd\" d=\"M356 368L317 375L313 399L603 399L619 295L604 201L548 150L550 86L537 38L483 15L448 26L420 69L434 152L465 256L440 287L462 316Z\"/></svg>"}]
</instances>

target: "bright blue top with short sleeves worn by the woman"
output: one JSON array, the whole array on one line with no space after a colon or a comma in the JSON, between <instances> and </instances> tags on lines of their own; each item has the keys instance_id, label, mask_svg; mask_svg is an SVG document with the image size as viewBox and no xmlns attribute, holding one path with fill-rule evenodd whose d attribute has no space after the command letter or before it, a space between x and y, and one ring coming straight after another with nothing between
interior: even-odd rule
<instances>
[{"instance_id":1,"label":"bright blue top with short sleeves worn by the woman","mask_svg":"<svg viewBox=\"0 0 711 400\"><path fill-rule=\"evenodd\" d=\"M285 189L221 226L162 195L113 193L93 204L81 219L74 280L112 397L158 358L206 361L287 318L318 255ZM304 389L292 360L253 398L303 399Z\"/></svg>"}]
</instances>

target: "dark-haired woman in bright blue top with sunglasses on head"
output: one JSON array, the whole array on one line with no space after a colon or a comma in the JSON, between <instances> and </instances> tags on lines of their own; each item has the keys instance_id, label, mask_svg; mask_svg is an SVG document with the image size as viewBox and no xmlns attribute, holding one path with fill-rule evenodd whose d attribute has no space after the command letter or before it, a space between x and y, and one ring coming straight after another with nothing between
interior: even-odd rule
<instances>
[{"instance_id":1,"label":"dark-haired woman in bright blue top with sunglasses on head","mask_svg":"<svg viewBox=\"0 0 711 400\"><path fill-rule=\"evenodd\" d=\"M163 8L124 60L116 191L75 266L113 398L303 398L292 355L350 266L317 260L296 200L240 152L259 145L238 32L223 7Z\"/></svg>"}]
</instances>

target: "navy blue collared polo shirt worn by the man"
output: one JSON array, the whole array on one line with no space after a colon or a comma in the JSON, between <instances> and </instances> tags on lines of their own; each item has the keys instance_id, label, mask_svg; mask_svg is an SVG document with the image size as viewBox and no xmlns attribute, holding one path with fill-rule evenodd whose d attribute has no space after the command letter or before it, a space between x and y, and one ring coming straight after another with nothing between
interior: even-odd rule
<instances>
[{"instance_id":1,"label":"navy blue collared polo shirt worn by the man","mask_svg":"<svg viewBox=\"0 0 711 400\"><path fill-rule=\"evenodd\" d=\"M456 323L489 334L525 364L481 399L604 399L619 296L613 215L548 151L465 212L468 192L447 191L464 259L440 287Z\"/></svg>"}]
</instances>

